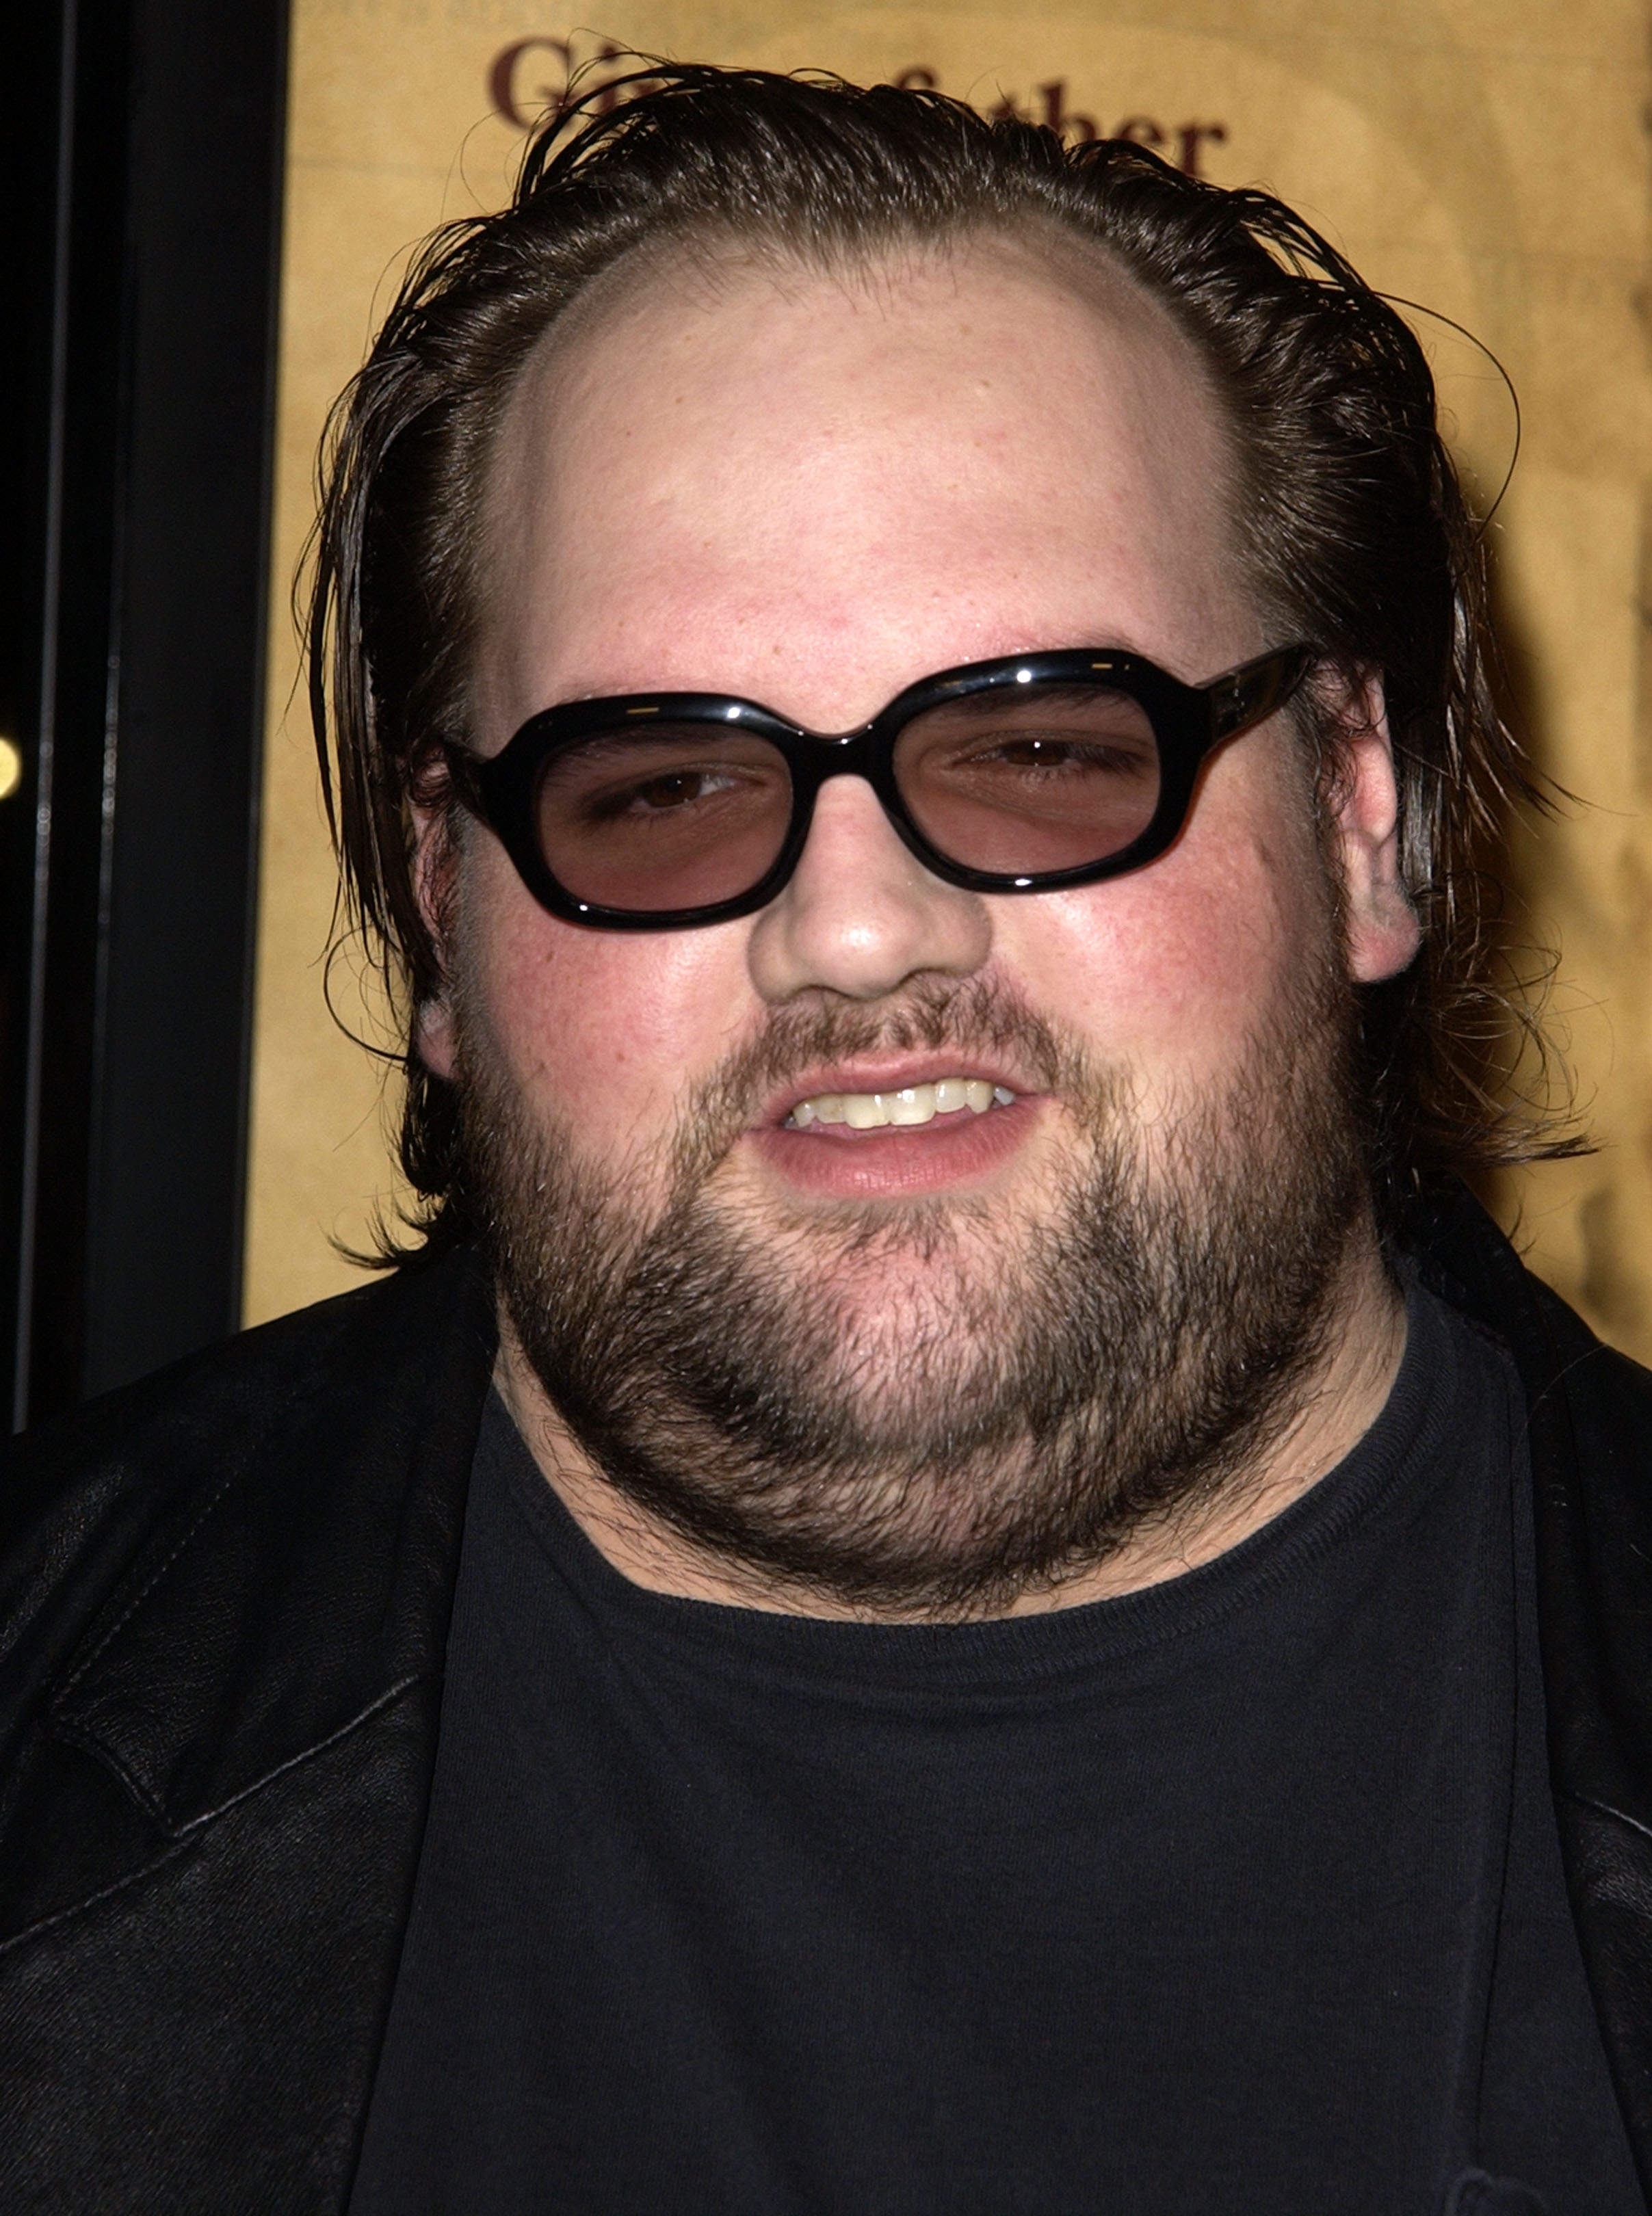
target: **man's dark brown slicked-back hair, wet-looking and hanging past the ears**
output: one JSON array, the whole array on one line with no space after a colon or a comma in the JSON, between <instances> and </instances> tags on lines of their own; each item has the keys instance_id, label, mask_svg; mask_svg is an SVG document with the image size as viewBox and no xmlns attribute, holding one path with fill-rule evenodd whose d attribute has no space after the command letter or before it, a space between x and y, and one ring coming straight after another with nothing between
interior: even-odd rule
<instances>
[{"instance_id":1,"label":"man's dark brown slicked-back hair, wet-looking and hanging past the ears","mask_svg":"<svg viewBox=\"0 0 1652 2216\"><path fill-rule=\"evenodd\" d=\"M1129 142L1067 146L934 91L650 64L616 104L592 91L545 117L508 208L426 242L328 421L308 683L339 931L366 935L406 1022L401 1163L419 1208L386 1259L470 1228L457 1101L412 1044L443 986L412 802L443 804L439 749L470 738L488 463L537 341L628 257L645 273L647 250L840 270L980 233L1100 246L1169 310L1226 419L1251 603L1346 687L1381 678L1424 944L1362 995L1379 1219L1432 1181L1570 1148L1501 1084L1534 1017L1501 982L1483 860L1510 807L1539 796L1492 698L1481 532L1395 308L1279 199Z\"/></svg>"}]
</instances>

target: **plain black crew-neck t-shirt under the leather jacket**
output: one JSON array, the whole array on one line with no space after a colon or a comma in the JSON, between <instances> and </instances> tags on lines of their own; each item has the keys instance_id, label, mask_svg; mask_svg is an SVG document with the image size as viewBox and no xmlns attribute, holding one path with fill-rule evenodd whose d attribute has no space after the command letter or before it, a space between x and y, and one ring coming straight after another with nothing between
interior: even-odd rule
<instances>
[{"instance_id":1,"label":"plain black crew-neck t-shirt under the leather jacket","mask_svg":"<svg viewBox=\"0 0 1652 2216\"><path fill-rule=\"evenodd\" d=\"M1217 1562L891 1627L641 1591L494 1401L353 2216L1643 2212L1521 1425L1413 1292Z\"/></svg>"}]
</instances>

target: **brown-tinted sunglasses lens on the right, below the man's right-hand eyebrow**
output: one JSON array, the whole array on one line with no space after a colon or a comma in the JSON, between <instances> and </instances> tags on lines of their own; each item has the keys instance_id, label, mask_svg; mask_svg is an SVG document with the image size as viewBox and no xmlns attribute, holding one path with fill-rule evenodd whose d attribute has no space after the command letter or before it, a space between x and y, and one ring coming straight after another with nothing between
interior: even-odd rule
<instances>
[{"instance_id":1,"label":"brown-tinted sunglasses lens on the right, below the man's right-hand eyebrow","mask_svg":"<svg viewBox=\"0 0 1652 2216\"><path fill-rule=\"evenodd\" d=\"M1005 878L1122 853L1160 804L1160 749L1140 700L1100 685L1002 685L916 716L896 784L922 835Z\"/></svg>"}]
</instances>

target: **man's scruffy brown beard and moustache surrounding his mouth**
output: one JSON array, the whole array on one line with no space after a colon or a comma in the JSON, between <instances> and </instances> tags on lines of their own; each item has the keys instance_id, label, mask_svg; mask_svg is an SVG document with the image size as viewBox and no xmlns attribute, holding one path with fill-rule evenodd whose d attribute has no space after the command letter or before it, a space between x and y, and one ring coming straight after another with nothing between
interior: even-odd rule
<instances>
[{"instance_id":1,"label":"man's scruffy brown beard and moustache surrounding his mouth","mask_svg":"<svg viewBox=\"0 0 1652 2216\"><path fill-rule=\"evenodd\" d=\"M907 1615L1058 1587L1209 1500L1302 1407L1368 1219L1328 955L1222 1097L1155 1132L1158 1161L1126 1088L982 979L783 1008L685 1110L652 1219L532 1119L461 995L468 1190L521 1350L621 1496L769 1584ZM758 1101L880 1048L1036 1073L1078 1128L1042 1206L787 1217L723 1190ZM860 1276L898 1305L856 1301Z\"/></svg>"}]
</instances>

